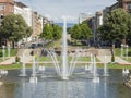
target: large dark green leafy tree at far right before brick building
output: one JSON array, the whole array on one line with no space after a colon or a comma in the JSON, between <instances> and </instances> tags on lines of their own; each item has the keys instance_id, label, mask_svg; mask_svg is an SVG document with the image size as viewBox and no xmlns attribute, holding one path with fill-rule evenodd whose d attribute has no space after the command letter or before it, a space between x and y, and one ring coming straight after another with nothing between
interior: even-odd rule
<instances>
[{"instance_id":1,"label":"large dark green leafy tree at far right before brick building","mask_svg":"<svg viewBox=\"0 0 131 98\"><path fill-rule=\"evenodd\" d=\"M124 42L130 30L130 15L123 9L116 9L107 16L105 24L98 28L102 40ZM121 40L122 39L122 40Z\"/></svg>"}]
</instances>

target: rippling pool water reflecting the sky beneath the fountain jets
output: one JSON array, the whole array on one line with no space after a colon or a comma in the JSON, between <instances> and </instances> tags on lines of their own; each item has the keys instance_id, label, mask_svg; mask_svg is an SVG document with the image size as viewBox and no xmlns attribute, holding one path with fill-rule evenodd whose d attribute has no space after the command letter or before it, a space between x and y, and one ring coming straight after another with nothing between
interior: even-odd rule
<instances>
[{"instance_id":1,"label":"rippling pool water reflecting the sky beneath the fountain jets","mask_svg":"<svg viewBox=\"0 0 131 98\"><path fill-rule=\"evenodd\" d=\"M49 68L43 75L37 74L37 83L29 83L31 70L26 77L20 77L19 70L9 71L9 75L0 78L4 83L0 86L0 98L131 98L121 70L109 70L110 76L104 77L103 70L98 69L99 83L92 82L88 73L79 73L80 70L83 68L69 81L61 81Z\"/></svg>"}]
</instances>

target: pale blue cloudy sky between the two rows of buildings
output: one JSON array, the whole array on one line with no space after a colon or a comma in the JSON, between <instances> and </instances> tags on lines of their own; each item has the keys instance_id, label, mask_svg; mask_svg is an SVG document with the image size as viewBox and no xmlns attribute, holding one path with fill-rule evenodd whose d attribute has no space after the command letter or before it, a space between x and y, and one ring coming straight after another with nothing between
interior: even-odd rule
<instances>
[{"instance_id":1,"label":"pale blue cloudy sky between the two rows of buildings","mask_svg":"<svg viewBox=\"0 0 131 98\"><path fill-rule=\"evenodd\" d=\"M34 11L55 22L61 22L67 16L70 22L78 22L80 13L94 15L105 7L110 7L117 0L15 0L25 3Z\"/></svg>"}]
</instances>

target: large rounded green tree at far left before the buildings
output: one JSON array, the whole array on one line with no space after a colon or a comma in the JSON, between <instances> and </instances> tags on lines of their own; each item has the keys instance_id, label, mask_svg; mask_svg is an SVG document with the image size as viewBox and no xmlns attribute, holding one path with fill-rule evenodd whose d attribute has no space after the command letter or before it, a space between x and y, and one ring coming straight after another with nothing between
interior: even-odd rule
<instances>
[{"instance_id":1,"label":"large rounded green tree at far left before the buildings","mask_svg":"<svg viewBox=\"0 0 131 98\"><path fill-rule=\"evenodd\" d=\"M0 27L0 35L4 39L12 41L13 48L14 42L21 40L22 38L29 36L31 32L28 32L28 26L25 20L19 14L9 14L7 15Z\"/></svg>"}]
</instances>

